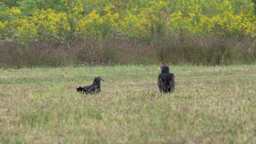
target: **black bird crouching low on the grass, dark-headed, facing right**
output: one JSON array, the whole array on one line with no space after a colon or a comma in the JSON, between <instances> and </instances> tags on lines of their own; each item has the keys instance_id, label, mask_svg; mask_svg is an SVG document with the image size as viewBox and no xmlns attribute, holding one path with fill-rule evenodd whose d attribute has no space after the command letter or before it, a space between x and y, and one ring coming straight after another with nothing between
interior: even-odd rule
<instances>
[{"instance_id":1,"label":"black bird crouching low on the grass, dark-headed, facing right","mask_svg":"<svg viewBox=\"0 0 256 144\"><path fill-rule=\"evenodd\" d=\"M86 93L86 94L94 94L101 92L101 81L104 79L100 76L95 77L94 82L90 86L78 87L77 92Z\"/></svg>"}]
</instances>

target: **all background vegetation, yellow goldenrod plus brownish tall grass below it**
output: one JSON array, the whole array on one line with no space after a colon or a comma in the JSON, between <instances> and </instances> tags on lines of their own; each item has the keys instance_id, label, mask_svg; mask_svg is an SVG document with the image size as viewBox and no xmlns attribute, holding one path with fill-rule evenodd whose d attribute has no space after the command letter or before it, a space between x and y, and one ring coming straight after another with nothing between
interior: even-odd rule
<instances>
[{"instance_id":1,"label":"all background vegetation, yellow goldenrod plus brownish tall grass below it","mask_svg":"<svg viewBox=\"0 0 256 144\"><path fill-rule=\"evenodd\" d=\"M248 64L255 25L249 0L1 0L0 65Z\"/></svg>"}]
</instances>

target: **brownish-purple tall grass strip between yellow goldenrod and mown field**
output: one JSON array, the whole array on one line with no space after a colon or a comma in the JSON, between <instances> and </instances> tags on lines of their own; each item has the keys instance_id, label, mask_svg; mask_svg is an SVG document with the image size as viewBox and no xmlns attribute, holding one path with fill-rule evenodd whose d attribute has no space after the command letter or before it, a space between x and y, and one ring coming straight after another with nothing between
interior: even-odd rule
<instances>
[{"instance_id":1,"label":"brownish-purple tall grass strip between yellow goldenrod and mown field","mask_svg":"<svg viewBox=\"0 0 256 144\"><path fill-rule=\"evenodd\" d=\"M252 38L191 37L187 34L168 35L149 44L115 38L84 38L65 44L54 39L32 41L30 44L13 40L0 45L0 66L252 64L256 60L255 45Z\"/></svg>"}]
</instances>

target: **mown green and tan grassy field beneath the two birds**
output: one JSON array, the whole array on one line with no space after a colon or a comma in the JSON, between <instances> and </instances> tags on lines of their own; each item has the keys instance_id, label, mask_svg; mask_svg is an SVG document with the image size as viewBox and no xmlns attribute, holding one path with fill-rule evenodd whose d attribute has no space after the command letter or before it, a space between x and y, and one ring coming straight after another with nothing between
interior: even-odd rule
<instances>
[{"instance_id":1,"label":"mown green and tan grassy field beneath the two birds","mask_svg":"<svg viewBox=\"0 0 256 144\"><path fill-rule=\"evenodd\" d=\"M255 65L0 69L0 143L256 143ZM102 93L78 86L102 76Z\"/></svg>"}]
</instances>

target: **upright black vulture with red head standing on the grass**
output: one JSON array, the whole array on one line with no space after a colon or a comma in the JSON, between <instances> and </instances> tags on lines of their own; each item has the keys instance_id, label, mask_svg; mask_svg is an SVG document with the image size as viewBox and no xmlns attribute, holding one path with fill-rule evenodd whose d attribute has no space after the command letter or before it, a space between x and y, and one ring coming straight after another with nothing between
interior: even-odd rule
<instances>
[{"instance_id":1,"label":"upright black vulture with red head standing on the grass","mask_svg":"<svg viewBox=\"0 0 256 144\"><path fill-rule=\"evenodd\" d=\"M159 67L161 70L161 74L158 76L158 88L160 93L174 93L175 88L175 79L174 74L169 72L169 67L165 64Z\"/></svg>"}]
</instances>

